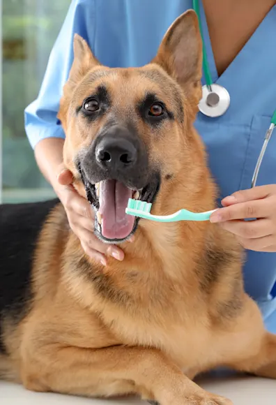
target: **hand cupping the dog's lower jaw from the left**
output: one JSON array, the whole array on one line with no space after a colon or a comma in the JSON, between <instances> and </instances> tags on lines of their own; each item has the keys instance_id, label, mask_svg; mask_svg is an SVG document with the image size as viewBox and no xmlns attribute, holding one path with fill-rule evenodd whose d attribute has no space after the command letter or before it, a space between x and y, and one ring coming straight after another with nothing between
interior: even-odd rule
<instances>
[{"instance_id":1,"label":"hand cupping the dog's lower jaw from the left","mask_svg":"<svg viewBox=\"0 0 276 405\"><path fill-rule=\"evenodd\" d=\"M107 264L107 256L123 260L124 253L113 244L100 242L93 233L95 215L89 202L77 193L72 186L72 172L63 166L57 177L59 182L58 195L66 210L70 228L79 238L84 252L98 260L102 265Z\"/></svg>"}]
</instances>

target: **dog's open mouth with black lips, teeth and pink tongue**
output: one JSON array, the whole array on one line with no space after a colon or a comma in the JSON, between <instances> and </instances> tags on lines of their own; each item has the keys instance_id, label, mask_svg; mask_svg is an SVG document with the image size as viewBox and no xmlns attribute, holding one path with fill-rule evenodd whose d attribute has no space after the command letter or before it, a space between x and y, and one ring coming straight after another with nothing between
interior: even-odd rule
<instances>
[{"instance_id":1,"label":"dog's open mouth with black lips, teeth and pink tongue","mask_svg":"<svg viewBox=\"0 0 276 405\"><path fill-rule=\"evenodd\" d=\"M105 179L91 184L83 172L86 196L95 212L95 233L108 242L120 242L135 232L139 219L125 213L129 198L153 202L159 189L158 176L143 189L135 189L116 179Z\"/></svg>"}]
</instances>

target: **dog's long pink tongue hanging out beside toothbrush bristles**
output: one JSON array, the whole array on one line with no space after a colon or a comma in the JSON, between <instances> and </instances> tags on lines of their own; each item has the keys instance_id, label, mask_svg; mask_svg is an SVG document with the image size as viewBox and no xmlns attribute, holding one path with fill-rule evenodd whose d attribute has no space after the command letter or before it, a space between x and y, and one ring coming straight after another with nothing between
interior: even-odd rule
<instances>
[{"instance_id":1,"label":"dog's long pink tongue hanging out beside toothbrush bristles","mask_svg":"<svg viewBox=\"0 0 276 405\"><path fill-rule=\"evenodd\" d=\"M123 239L132 232L135 217L125 214L132 191L116 180L100 182L100 209L102 236Z\"/></svg>"}]
</instances>

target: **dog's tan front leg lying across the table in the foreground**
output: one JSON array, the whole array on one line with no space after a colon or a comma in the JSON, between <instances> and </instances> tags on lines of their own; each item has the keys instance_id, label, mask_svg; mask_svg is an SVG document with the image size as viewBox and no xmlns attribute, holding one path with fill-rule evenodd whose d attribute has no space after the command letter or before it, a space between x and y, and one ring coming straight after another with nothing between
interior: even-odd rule
<instances>
[{"instance_id":1,"label":"dog's tan front leg lying across the table in the foreground","mask_svg":"<svg viewBox=\"0 0 276 405\"><path fill-rule=\"evenodd\" d=\"M137 393L160 405L230 405L206 392L154 349L43 346L22 364L26 388L89 397Z\"/></svg>"}]
</instances>

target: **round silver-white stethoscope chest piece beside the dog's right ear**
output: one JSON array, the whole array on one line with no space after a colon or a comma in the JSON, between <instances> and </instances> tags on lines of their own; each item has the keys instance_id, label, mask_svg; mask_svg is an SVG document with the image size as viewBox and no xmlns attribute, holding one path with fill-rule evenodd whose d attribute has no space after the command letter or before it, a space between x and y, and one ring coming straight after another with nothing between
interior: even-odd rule
<instances>
[{"instance_id":1,"label":"round silver-white stethoscope chest piece beside the dog's right ear","mask_svg":"<svg viewBox=\"0 0 276 405\"><path fill-rule=\"evenodd\" d=\"M230 96L227 89L220 84L211 84L202 87L202 98L199 101L199 111L207 117L220 117L230 105Z\"/></svg>"}]
</instances>

